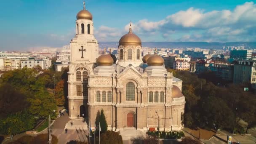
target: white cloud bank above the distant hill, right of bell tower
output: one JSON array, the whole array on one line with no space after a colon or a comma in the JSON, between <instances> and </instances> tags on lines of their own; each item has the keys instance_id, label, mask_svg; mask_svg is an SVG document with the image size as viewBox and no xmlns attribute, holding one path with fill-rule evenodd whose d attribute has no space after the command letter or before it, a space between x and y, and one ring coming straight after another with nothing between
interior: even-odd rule
<instances>
[{"instance_id":1,"label":"white cloud bank above the distant hill, right of bell tower","mask_svg":"<svg viewBox=\"0 0 256 144\"><path fill-rule=\"evenodd\" d=\"M160 21L142 19L133 22L132 29L144 41L158 36L162 37L162 41L255 41L255 16L256 4L253 2L237 5L234 10L205 12L191 7ZM106 40L117 41L122 34L128 32L129 24L121 30L103 27L97 30L97 35L107 37Z\"/></svg>"}]
</instances>

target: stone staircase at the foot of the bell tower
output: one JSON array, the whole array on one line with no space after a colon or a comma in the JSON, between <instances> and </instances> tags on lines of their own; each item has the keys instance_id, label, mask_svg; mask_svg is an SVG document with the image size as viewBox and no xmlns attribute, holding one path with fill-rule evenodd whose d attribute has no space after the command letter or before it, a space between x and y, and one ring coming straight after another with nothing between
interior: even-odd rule
<instances>
[{"instance_id":1,"label":"stone staircase at the foot of the bell tower","mask_svg":"<svg viewBox=\"0 0 256 144\"><path fill-rule=\"evenodd\" d=\"M71 122L73 122L73 125L71 125ZM82 119L75 119L75 120L69 120L69 122L66 123L64 129L68 130L88 130L88 125L87 123L83 123Z\"/></svg>"}]
</instances>

